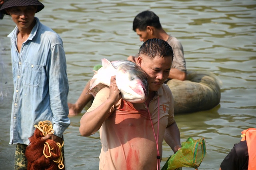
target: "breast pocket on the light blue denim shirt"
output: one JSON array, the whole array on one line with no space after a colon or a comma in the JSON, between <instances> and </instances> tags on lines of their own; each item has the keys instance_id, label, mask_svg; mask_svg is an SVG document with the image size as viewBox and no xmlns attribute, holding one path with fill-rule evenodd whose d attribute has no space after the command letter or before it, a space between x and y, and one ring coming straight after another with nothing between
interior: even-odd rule
<instances>
[{"instance_id":1,"label":"breast pocket on the light blue denim shirt","mask_svg":"<svg viewBox=\"0 0 256 170\"><path fill-rule=\"evenodd\" d=\"M42 67L40 65L25 63L24 84L32 87L38 87L42 75Z\"/></svg>"}]
</instances>

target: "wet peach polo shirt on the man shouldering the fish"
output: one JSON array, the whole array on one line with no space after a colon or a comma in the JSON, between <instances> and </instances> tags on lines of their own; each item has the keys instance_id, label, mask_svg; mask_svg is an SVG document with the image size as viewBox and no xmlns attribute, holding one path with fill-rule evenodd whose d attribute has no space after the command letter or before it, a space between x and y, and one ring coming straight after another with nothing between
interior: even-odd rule
<instances>
[{"instance_id":1,"label":"wet peach polo shirt on the man shouldering the fish","mask_svg":"<svg viewBox=\"0 0 256 170\"><path fill-rule=\"evenodd\" d=\"M96 109L109 96L105 87L95 96L88 111ZM159 96L158 149L162 157L164 131L174 123L174 100L170 88L163 84L149 104L150 116L157 138ZM102 149L100 170L155 170L157 167L156 140L146 104L134 104L119 100L110 109L109 117L100 128Z\"/></svg>"}]
</instances>

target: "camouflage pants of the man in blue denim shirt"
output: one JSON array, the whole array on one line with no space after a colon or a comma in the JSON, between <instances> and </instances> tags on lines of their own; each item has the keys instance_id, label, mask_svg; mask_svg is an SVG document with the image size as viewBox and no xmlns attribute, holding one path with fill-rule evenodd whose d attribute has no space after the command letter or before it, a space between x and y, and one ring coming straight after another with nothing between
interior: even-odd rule
<instances>
[{"instance_id":1,"label":"camouflage pants of the man in blue denim shirt","mask_svg":"<svg viewBox=\"0 0 256 170\"><path fill-rule=\"evenodd\" d=\"M16 151L15 151L15 162L14 162L14 170L27 170L28 160L25 156L25 150L28 145L24 144L17 144ZM63 156L63 164L65 164L64 158L64 147L62 147L62 156ZM66 169L66 168L64 168Z\"/></svg>"}]
</instances>

